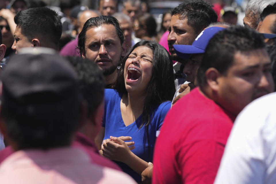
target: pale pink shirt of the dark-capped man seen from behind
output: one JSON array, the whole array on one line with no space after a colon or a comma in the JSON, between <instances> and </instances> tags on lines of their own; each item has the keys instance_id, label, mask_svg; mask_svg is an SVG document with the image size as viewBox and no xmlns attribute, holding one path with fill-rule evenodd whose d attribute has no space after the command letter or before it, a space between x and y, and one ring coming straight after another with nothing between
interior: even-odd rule
<instances>
[{"instance_id":1,"label":"pale pink shirt of the dark-capped man seen from behind","mask_svg":"<svg viewBox=\"0 0 276 184\"><path fill-rule=\"evenodd\" d=\"M8 184L105 184L135 181L120 171L91 164L78 148L20 150L0 165L0 183Z\"/></svg>"}]
</instances>

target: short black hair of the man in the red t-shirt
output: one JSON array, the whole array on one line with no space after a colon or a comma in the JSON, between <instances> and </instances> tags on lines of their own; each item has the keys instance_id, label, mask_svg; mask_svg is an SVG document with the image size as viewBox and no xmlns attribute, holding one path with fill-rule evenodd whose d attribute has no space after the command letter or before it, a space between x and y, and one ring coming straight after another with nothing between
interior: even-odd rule
<instances>
[{"instance_id":1,"label":"short black hair of the man in the red t-shirt","mask_svg":"<svg viewBox=\"0 0 276 184\"><path fill-rule=\"evenodd\" d=\"M216 33L209 41L198 69L197 80L200 87L206 84L205 72L215 68L223 75L233 65L237 52L264 49L264 38L256 30L243 26L233 26Z\"/></svg>"}]
</instances>

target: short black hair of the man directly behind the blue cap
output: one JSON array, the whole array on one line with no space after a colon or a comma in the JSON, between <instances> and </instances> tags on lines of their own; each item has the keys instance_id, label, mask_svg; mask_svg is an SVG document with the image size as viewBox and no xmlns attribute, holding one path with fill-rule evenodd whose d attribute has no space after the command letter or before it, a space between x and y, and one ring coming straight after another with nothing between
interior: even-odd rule
<instances>
[{"instance_id":1,"label":"short black hair of the man directly behind the blue cap","mask_svg":"<svg viewBox=\"0 0 276 184\"><path fill-rule=\"evenodd\" d=\"M202 0L186 0L175 7L172 14L179 15L181 19L187 18L187 24L198 34L209 24L217 22L218 16L212 7Z\"/></svg>"}]
</instances>

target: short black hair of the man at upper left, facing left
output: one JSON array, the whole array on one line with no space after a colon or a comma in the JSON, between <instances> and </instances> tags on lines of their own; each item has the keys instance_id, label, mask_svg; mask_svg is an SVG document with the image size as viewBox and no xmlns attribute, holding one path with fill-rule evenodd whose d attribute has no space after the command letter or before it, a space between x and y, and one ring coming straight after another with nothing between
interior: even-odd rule
<instances>
[{"instance_id":1,"label":"short black hair of the man at upper left, facing left","mask_svg":"<svg viewBox=\"0 0 276 184\"><path fill-rule=\"evenodd\" d=\"M62 23L55 11L46 7L21 10L14 17L14 22L29 40L40 36L40 39L50 40L58 45L62 34Z\"/></svg>"}]
</instances>

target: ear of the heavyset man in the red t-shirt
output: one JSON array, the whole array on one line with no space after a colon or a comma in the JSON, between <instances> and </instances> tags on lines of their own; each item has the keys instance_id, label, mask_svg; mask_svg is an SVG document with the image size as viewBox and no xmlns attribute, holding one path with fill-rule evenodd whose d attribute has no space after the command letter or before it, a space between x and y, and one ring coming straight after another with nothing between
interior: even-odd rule
<instances>
[{"instance_id":1,"label":"ear of the heavyset man in the red t-shirt","mask_svg":"<svg viewBox=\"0 0 276 184\"><path fill-rule=\"evenodd\" d=\"M219 73L215 68L209 68L205 72L205 76L208 86L210 86L213 91L217 91L219 88L218 78L221 77L221 73Z\"/></svg>"}]
</instances>

